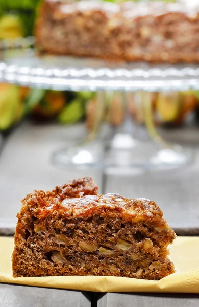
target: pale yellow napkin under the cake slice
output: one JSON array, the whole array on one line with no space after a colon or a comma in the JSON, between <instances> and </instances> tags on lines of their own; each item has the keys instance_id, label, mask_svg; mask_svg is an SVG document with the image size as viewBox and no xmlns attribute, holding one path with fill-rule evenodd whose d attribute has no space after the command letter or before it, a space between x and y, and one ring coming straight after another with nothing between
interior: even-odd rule
<instances>
[{"instance_id":1,"label":"pale yellow napkin under the cake slice","mask_svg":"<svg viewBox=\"0 0 199 307\"><path fill-rule=\"evenodd\" d=\"M13 238L0 237L0 282L96 292L199 293L199 237L177 237L170 246L176 273L161 280L110 276L12 277Z\"/></svg>"}]
</instances>

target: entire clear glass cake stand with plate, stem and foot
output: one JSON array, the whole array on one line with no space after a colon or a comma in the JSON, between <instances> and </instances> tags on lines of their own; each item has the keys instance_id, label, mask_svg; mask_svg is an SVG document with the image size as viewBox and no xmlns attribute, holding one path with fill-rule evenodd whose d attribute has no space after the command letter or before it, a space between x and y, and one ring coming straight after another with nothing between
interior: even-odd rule
<instances>
[{"instance_id":1,"label":"entire clear glass cake stand with plate, stem and foot","mask_svg":"<svg viewBox=\"0 0 199 307\"><path fill-rule=\"evenodd\" d=\"M52 161L61 167L100 167L107 171L132 173L133 169L174 169L191 163L194 152L166 143L157 133L150 95L160 91L199 89L199 67L195 64L148 64L145 62L107 62L71 56L37 55L34 38L7 40L0 45L0 81L53 90L96 91L97 112L93 129L79 143L60 149ZM126 112L122 127L105 141L98 137L109 91L142 91L140 101L148 138Z\"/></svg>"}]
</instances>

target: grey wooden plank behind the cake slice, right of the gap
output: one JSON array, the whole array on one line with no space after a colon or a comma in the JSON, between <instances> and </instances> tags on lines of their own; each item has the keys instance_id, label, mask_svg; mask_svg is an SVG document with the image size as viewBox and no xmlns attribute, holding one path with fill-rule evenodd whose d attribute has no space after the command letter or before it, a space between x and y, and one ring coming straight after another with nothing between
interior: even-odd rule
<instances>
[{"instance_id":1,"label":"grey wooden plank behind the cake slice, right of the gap","mask_svg":"<svg viewBox=\"0 0 199 307\"><path fill-rule=\"evenodd\" d=\"M193 165L173 171L134 171L132 176L107 175L106 193L155 201L179 234L199 234L199 151Z\"/></svg>"}]
</instances>

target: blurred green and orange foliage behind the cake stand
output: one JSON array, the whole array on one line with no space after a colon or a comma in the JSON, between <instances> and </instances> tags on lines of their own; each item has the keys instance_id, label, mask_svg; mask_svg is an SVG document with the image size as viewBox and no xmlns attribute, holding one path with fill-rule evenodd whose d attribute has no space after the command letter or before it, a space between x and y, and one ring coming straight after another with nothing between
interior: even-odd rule
<instances>
[{"instance_id":1,"label":"blurred green and orange foliage behind the cake stand","mask_svg":"<svg viewBox=\"0 0 199 307\"><path fill-rule=\"evenodd\" d=\"M0 40L33 35L41 1L0 0ZM122 0L104 1L121 2ZM173 2L173 0L163 1ZM198 122L198 93L194 91L154 93L151 103L157 123L182 124L190 116ZM104 119L109 120L113 125L122 123L121 96L121 93L109 93L106 101ZM141 108L136 105L137 96L139 93L130 94L129 110L134 120L143 123ZM37 121L56 120L60 124L72 124L86 118L87 127L92 128L96 112L95 93L46 91L0 84L0 130L8 131L27 116Z\"/></svg>"}]
</instances>

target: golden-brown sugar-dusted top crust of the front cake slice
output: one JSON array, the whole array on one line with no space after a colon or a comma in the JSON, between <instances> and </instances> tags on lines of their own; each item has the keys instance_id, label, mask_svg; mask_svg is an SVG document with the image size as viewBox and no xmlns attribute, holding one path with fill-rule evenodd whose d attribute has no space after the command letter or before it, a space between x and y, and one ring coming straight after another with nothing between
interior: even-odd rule
<instances>
[{"instance_id":1,"label":"golden-brown sugar-dusted top crust of the front cake slice","mask_svg":"<svg viewBox=\"0 0 199 307\"><path fill-rule=\"evenodd\" d=\"M31 212L36 218L88 218L94 214L120 216L131 222L150 222L167 228L163 213L153 201L127 199L119 194L97 195L98 187L89 177L71 180L52 191L34 191L22 201L21 214Z\"/></svg>"}]
</instances>

